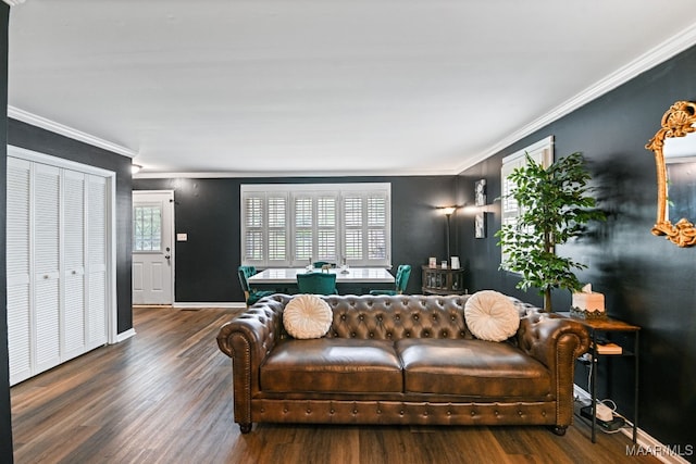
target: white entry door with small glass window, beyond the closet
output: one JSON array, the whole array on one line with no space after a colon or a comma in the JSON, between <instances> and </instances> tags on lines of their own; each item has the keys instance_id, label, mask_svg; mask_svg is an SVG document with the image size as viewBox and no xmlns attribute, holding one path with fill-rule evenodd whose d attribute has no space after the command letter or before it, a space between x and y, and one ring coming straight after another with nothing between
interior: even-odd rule
<instances>
[{"instance_id":1,"label":"white entry door with small glass window, beyond the closet","mask_svg":"<svg viewBox=\"0 0 696 464\"><path fill-rule=\"evenodd\" d=\"M133 192L133 303L174 302L174 192Z\"/></svg>"}]
</instances>

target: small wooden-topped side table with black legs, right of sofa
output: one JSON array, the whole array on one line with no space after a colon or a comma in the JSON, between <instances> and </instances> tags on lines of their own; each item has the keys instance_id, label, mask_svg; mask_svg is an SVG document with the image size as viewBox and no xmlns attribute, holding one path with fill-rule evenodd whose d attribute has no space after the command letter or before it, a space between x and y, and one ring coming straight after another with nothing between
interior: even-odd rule
<instances>
[{"instance_id":1,"label":"small wooden-topped side table with black legs, right of sofa","mask_svg":"<svg viewBox=\"0 0 696 464\"><path fill-rule=\"evenodd\" d=\"M638 335L641 327L633 324L624 323L623 321L606 317L601 319L572 317L570 313L557 313L562 317L569 317L573 321L577 321L583 324L589 330L589 338L592 341L592 442L596 442L596 426L597 418L595 416L597 410L597 366L600 359L609 359L611 356L633 356L634 359L634 392L633 392L633 442L636 442L637 429L638 429ZM599 340L605 339L605 335L612 333L625 333L633 335L633 347L622 346L620 354L607 354L598 353L597 344ZM613 341L613 340L610 340Z\"/></svg>"}]
</instances>

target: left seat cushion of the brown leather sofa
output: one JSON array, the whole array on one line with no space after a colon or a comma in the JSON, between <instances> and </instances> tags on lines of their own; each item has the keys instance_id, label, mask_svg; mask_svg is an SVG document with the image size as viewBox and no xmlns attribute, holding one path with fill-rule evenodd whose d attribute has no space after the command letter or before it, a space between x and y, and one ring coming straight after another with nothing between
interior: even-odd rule
<instances>
[{"instance_id":1,"label":"left seat cushion of the brown leather sofa","mask_svg":"<svg viewBox=\"0 0 696 464\"><path fill-rule=\"evenodd\" d=\"M287 340L261 366L261 388L274 392L401 392L401 364L384 340Z\"/></svg>"}]
</instances>

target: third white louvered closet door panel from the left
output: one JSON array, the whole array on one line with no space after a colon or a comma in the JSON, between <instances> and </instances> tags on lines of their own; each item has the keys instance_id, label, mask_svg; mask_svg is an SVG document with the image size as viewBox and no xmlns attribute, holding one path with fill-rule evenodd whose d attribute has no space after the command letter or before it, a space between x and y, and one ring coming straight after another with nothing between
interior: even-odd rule
<instances>
[{"instance_id":1,"label":"third white louvered closet door panel from the left","mask_svg":"<svg viewBox=\"0 0 696 464\"><path fill-rule=\"evenodd\" d=\"M85 350L85 174L63 172L63 358Z\"/></svg>"}]
</instances>

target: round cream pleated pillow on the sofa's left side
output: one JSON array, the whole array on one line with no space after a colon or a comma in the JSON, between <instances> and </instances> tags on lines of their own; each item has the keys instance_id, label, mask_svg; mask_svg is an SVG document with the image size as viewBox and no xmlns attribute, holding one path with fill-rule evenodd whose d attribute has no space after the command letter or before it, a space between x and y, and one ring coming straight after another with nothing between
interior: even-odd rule
<instances>
[{"instance_id":1,"label":"round cream pleated pillow on the sofa's left side","mask_svg":"<svg viewBox=\"0 0 696 464\"><path fill-rule=\"evenodd\" d=\"M285 330L295 338L325 336L333 317L328 303L314 294L294 297L283 311Z\"/></svg>"}]
</instances>

